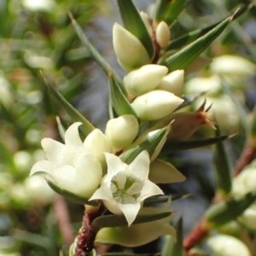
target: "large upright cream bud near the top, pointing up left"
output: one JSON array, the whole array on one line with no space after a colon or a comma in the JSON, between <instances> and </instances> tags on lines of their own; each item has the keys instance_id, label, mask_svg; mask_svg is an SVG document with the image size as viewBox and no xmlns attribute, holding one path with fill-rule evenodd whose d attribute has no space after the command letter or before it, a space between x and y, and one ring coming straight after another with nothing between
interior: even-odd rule
<instances>
[{"instance_id":1,"label":"large upright cream bud near the top, pointing up left","mask_svg":"<svg viewBox=\"0 0 256 256\"><path fill-rule=\"evenodd\" d=\"M150 62L142 42L118 23L113 25L113 49L127 73Z\"/></svg>"}]
</instances>

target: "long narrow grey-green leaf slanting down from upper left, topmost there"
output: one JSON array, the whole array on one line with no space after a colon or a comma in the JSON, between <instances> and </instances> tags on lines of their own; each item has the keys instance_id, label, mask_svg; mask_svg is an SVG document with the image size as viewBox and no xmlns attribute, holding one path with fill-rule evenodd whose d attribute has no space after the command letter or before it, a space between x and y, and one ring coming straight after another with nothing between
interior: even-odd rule
<instances>
[{"instance_id":1,"label":"long narrow grey-green leaf slanting down from upper left, topmost there","mask_svg":"<svg viewBox=\"0 0 256 256\"><path fill-rule=\"evenodd\" d=\"M90 55L96 60L96 62L102 67L102 70L106 75L108 76L108 72L111 71L113 73L113 76L117 80L117 83L119 84L119 87L125 94L125 86L123 84L123 80L119 77L117 73L113 71L111 67L109 67L108 62L105 61L105 59L102 57L102 55L97 51L97 49L90 44L89 38L86 37L84 34L83 29L79 26L76 20L74 20L73 15L70 14L70 19L72 21L73 27L75 29L75 32L77 33L79 39L81 40L81 43L86 47L86 49L89 50Z\"/></svg>"}]
</instances>

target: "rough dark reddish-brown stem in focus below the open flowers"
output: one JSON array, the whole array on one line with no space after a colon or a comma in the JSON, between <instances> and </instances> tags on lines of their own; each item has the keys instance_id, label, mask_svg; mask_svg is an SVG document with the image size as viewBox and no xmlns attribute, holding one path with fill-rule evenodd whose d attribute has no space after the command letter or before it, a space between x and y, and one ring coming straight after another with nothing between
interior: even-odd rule
<instances>
[{"instance_id":1,"label":"rough dark reddish-brown stem in focus below the open flowers","mask_svg":"<svg viewBox=\"0 0 256 256\"><path fill-rule=\"evenodd\" d=\"M96 232L91 229L92 221L102 214L102 207L98 212L86 212L84 210L83 223L79 229L79 236L75 239L75 253L73 256L90 256L96 237Z\"/></svg>"}]
</instances>

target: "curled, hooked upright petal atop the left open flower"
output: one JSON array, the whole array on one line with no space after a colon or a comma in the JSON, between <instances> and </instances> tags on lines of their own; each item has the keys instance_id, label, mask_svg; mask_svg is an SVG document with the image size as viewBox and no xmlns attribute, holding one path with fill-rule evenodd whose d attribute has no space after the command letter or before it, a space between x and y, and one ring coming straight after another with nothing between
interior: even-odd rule
<instances>
[{"instance_id":1,"label":"curled, hooked upright petal atop the left open flower","mask_svg":"<svg viewBox=\"0 0 256 256\"><path fill-rule=\"evenodd\" d=\"M82 123L76 122L70 125L65 133L65 143L67 147L79 148L84 147L79 136L79 125Z\"/></svg>"}]
</instances>

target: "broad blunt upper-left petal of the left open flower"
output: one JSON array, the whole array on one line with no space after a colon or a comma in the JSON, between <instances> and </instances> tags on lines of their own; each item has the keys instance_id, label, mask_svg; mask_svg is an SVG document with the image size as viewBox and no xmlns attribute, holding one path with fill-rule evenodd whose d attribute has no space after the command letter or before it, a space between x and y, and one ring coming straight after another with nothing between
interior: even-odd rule
<instances>
[{"instance_id":1,"label":"broad blunt upper-left petal of the left open flower","mask_svg":"<svg viewBox=\"0 0 256 256\"><path fill-rule=\"evenodd\" d=\"M63 154L65 154L65 145L55 140L46 137L41 142L42 147L44 148L44 152L46 154L49 162L53 164L53 166L61 166L63 160Z\"/></svg>"}]
</instances>

